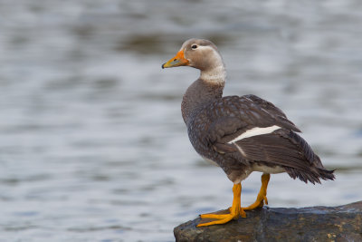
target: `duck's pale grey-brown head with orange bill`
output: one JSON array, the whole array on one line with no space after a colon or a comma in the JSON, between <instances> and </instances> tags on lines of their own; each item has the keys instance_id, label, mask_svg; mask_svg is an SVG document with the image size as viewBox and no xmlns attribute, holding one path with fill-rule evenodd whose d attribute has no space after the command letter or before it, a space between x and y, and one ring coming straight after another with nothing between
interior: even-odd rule
<instances>
[{"instance_id":1,"label":"duck's pale grey-brown head with orange bill","mask_svg":"<svg viewBox=\"0 0 362 242\"><path fill-rule=\"evenodd\" d=\"M176 56L164 63L162 68L176 66L191 66L202 72L207 72L214 68L224 67L224 63L216 45L211 41L189 39L182 44Z\"/></svg>"}]
</instances>

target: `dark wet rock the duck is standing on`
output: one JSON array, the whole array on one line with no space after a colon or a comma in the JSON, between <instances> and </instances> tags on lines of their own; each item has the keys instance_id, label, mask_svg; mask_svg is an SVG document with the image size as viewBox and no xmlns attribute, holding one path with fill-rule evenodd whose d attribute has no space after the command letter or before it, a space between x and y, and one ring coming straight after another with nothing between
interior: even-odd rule
<instances>
[{"instance_id":1,"label":"dark wet rock the duck is standing on","mask_svg":"<svg viewBox=\"0 0 362 242\"><path fill-rule=\"evenodd\" d=\"M224 225L195 227L200 220L175 227L176 241L362 241L362 201L338 207L264 207Z\"/></svg>"}]
</instances>

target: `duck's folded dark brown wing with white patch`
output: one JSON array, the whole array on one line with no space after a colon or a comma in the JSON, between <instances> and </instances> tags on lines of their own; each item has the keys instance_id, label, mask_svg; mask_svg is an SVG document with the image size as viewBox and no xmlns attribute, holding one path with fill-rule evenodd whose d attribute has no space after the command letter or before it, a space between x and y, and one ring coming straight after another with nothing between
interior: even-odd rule
<instances>
[{"instance_id":1,"label":"duck's folded dark brown wing with white patch","mask_svg":"<svg viewBox=\"0 0 362 242\"><path fill-rule=\"evenodd\" d=\"M319 157L280 109L253 95L224 99L208 109L214 120L208 139L214 150L245 164L281 166L294 178L319 182Z\"/></svg>"}]
</instances>

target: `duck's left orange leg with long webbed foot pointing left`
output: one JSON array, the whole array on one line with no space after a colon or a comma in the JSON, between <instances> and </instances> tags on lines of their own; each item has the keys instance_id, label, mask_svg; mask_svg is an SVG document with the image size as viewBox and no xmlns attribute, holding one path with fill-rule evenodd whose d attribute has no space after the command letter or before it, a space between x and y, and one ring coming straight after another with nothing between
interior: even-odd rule
<instances>
[{"instance_id":1,"label":"duck's left orange leg with long webbed foot pointing left","mask_svg":"<svg viewBox=\"0 0 362 242\"><path fill-rule=\"evenodd\" d=\"M233 218L237 219L239 216L245 217L245 213L243 208L241 208L240 204L240 197L242 194L242 184L233 184L233 206L229 208L230 213L228 214L202 214L200 215L201 218L214 218L214 221L208 223L200 223L197 227L202 226L210 226L210 225L217 225L217 224L225 224L232 220Z\"/></svg>"}]
</instances>

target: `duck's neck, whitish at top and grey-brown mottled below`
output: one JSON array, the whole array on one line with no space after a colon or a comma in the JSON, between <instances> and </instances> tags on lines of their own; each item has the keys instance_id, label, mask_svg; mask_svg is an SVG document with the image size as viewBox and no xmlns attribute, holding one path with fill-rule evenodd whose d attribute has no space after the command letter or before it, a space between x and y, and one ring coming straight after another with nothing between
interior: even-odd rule
<instances>
[{"instance_id":1,"label":"duck's neck, whitish at top and grey-brown mottled below","mask_svg":"<svg viewBox=\"0 0 362 242\"><path fill-rule=\"evenodd\" d=\"M225 78L224 65L209 71L201 71L200 77L187 88L181 103L182 117L186 125L196 111L222 98Z\"/></svg>"}]
</instances>

